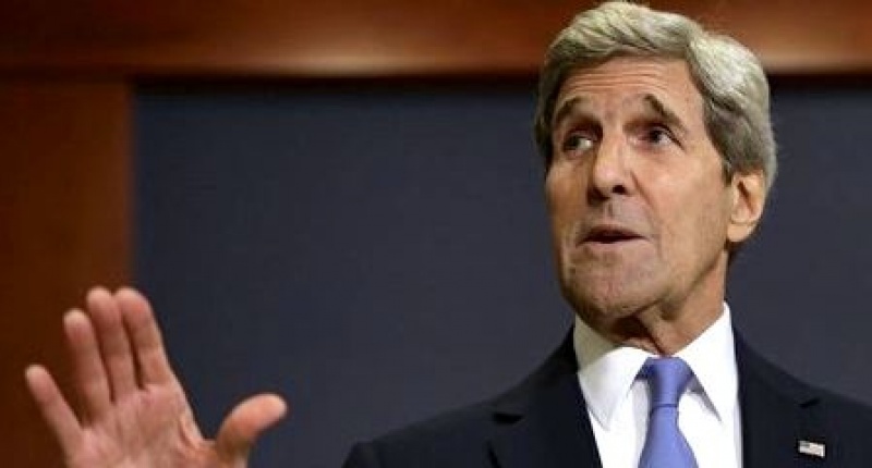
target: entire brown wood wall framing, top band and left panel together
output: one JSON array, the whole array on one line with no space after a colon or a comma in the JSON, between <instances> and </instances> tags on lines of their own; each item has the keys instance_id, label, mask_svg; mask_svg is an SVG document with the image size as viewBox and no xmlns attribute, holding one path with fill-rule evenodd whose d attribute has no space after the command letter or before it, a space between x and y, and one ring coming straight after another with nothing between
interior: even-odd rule
<instances>
[{"instance_id":1,"label":"entire brown wood wall framing, top band and left panel together","mask_svg":"<svg viewBox=\"0 0 872 468\"><path fill-rule=\"evenodd\" d=\"M349 4L350 3L350 4ZM22 371L63 371L59 318L130 280L131 93L140 78L529 77L588 1L12 1L0 5L3 466L57 451ZM773 73L872 72L872 5L655 1L715 24Z\"/></svg>"}]
</instances>

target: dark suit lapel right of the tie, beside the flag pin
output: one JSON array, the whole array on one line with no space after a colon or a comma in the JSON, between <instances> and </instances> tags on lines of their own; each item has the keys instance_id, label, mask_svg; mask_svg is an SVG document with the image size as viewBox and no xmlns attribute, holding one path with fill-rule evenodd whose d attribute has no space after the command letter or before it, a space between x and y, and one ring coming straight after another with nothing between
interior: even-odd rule
<instances>
[{"instance_id":1,"label":"dark suit lapel right of the tie, beside the flag pin","mask_svg":"<svg viewBox=\"0 0 872 468\"><path fill-rule=\"evenodd\" d=\"M800 441L825 443L813 389L766 362L736 337L744 468L823 467L799 452Z\"/></svg>"}]
</instances>

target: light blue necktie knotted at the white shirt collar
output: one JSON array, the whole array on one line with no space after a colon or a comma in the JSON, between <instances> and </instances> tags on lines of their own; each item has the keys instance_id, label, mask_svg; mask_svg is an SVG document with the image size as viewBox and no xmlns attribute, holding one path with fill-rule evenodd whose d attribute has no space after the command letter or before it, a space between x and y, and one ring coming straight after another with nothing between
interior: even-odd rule
<instances>
[{"instance_id":1,"label":"light blue necktie knotted at the white shirt collar","mask_svg":"<svg viewBox=\"0 0 872 468\"><path fill-rule=\"evenodd\" d=\"M678 429L678 398L690 382L690 368L677 357L651 358L641 375L651 389L651 414L639 468L697 468L693 452Z\"/></svg>"}]
</instances>

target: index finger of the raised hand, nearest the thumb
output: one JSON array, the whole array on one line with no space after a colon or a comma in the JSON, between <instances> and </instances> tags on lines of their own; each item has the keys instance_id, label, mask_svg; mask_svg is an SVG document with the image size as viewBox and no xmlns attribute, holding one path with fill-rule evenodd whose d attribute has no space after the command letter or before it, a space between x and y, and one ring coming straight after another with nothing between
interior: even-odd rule
<instances>
[{"instance_id":1,"label":"index finger of the raised hand, nearest the thumb","mask_svg":"<svg viewBox=\"0 0 872 468\"><path fill-rule=\"evenodd\" d=\"M140 365L142 383L145 385L175 382L175 374L167 358L160 329L148 300L135 290L122 288L116 293L116 301L131 337L133 352Z\"/></svg>"}]
</instances>

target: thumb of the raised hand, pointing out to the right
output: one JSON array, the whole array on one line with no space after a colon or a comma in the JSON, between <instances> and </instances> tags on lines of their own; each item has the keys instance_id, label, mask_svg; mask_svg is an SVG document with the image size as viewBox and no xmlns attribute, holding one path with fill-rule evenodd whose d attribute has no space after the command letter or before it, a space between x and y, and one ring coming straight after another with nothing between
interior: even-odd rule
<instances>
[{"instance_id":1,"label":"thumb of the raised hand, pointing out to the right","mask_svg":"<svg viewBox=\"0 0 872 468\"><path fill-rule=\"evenodd\" d=\"M215 441L218 458L230 465L244 461L257 436L286 411L284 401L271 394L253 396L237 405L218 431Z\"/></svg>"}]
</instances>

